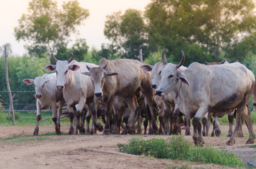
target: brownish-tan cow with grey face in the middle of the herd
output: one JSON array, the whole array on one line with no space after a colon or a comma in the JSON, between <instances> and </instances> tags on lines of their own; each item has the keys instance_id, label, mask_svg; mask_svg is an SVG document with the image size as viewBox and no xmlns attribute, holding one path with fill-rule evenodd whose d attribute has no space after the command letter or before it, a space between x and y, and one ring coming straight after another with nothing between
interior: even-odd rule
<instances>
[{"instance_id":1,"label":"brownish-tan cow with grey face in the middle of the herd","mask_svg":"<svg viewBox=\"0 0 256 169\"><path fill-rule=\"evenodd\" d=\"M84 74L91 76L95 87L95 96L103 96L103 101L105 102L107 123L105 124L103 134L110 134L110 112L112 112L112 104L115 96L124 99L124 102L129 106L129 122L122 134L129 132L134 123L138 109L136 95L139 91L144 94L151 111L151 122L153 125L152 134L157 134L158 126L154 108L156 104L153 101L151 75L141 70L141 65L143 65L143 63L132 59L122 58L108 61L102 58L98 67L87 67L90 72Z\"/></svg>"}]
</instances>

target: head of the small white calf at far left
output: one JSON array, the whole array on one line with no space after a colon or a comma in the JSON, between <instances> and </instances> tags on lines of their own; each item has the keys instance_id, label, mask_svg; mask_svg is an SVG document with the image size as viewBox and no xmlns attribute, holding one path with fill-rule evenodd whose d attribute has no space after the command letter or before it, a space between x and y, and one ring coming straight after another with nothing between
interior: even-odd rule
<instances>
[{"instance_id":1,"label":"head of the small white calf at far left","mask_svg":"<svg viewBox=\"0 0 256 169\"><path fill-rule=\"evenodd\" d=\"M25 84L34 84L35 87L35 97L40 99L42 97L42 88L45 87L45 84L49 82L50 79L45 79L44 77L35 77L35 80L24 79Z\"/></svg>"}]
</instances>

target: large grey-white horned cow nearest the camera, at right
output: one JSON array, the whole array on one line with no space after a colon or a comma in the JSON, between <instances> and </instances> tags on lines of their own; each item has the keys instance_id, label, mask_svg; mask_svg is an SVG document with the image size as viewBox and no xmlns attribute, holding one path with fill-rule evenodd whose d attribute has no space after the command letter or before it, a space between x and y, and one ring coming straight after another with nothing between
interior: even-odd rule
<instances>
[{"instance_id":1,"label":"large grey-white horned cow nearest the camera, at right","mask_svg":"<svg viewBox=\"0 0 256 169\"><path fill-rule=\"evenodd\" d=\"M168 94L175 99L175 112L178 110L193 118L194 143L203 144L200 119L210 111L223 114L237 108L235 130L228 140L228 145L235 143L235 136L241 117L245 117L250 137L246 143L254 142L252 118L247 104L255 83L255 76L241 63L225 65L203 65L192 63L187 70L178 68L184 63L185 56L178 65L168 63L161 72L162 80L156 94Z\"/></svg>"}]
</instances>

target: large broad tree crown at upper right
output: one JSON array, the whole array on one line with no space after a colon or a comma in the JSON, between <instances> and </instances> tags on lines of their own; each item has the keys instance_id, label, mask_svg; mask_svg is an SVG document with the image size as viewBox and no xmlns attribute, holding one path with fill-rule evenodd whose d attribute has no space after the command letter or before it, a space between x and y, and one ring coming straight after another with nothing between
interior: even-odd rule
<instances>
[{"instance_id":1,"label":"large broad tree crown at upper right","mask_svg":"<svg viewBox=\"0 0 256 169\"><path fill-rule=\"evenodd\" d=\"M149 46L185 39L214 54L255 32L255 5L251 0L153 0L146 7Z\"/></svg>"}]
</instances>

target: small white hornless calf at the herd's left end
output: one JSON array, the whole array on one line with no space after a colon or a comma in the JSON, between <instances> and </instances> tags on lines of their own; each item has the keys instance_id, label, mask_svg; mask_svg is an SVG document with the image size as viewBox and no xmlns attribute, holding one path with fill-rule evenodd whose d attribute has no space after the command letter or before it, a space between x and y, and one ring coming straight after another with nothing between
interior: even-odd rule
<instances>
[{"instance_id":1,"label":"small white hornless calf at the herd's left end","mask_svg":"<svg viewBox=\"0 0 256 169\"><path fill-rule=\"evenodd\" d=\"M64 98L62 91L55 87L56 74L45 74L42 77L35 77L35 80L24 79L25 84L34 84L35 97L37 99L37 124L35 126L34 135L38 135L38 123L41 119L41 109L49 106L52 108L52 120L55 124L56 134L61 134L59 118L62 115L62 106L64 105ZM57 106L58 103L58 106Z\"/></svg>"}]
</instances>

